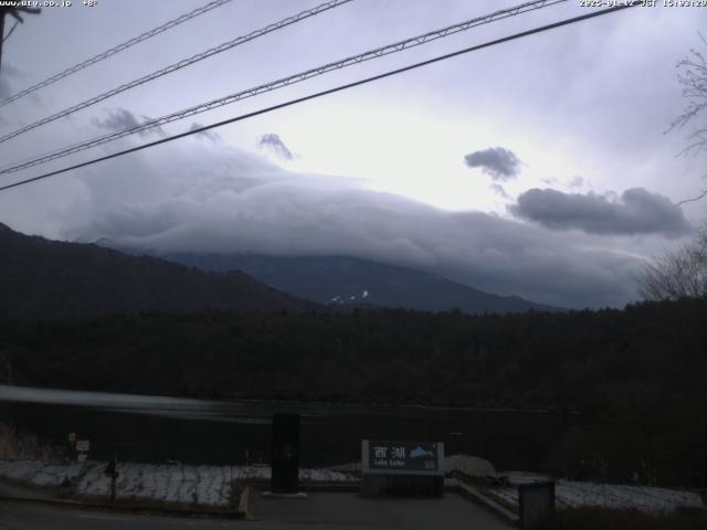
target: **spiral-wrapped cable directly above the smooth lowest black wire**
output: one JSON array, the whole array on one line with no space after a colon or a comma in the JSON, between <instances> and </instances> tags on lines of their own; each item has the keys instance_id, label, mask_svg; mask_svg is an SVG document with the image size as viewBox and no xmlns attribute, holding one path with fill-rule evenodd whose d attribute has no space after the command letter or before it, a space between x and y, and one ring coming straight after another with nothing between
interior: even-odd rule
<instances>
[{"instance_id":1,"label":"spiral-wrapped cable directly above the smooth lowest black wire","mask_svg":"<svg viewBox=\"0 0 707 530\"><path fill-rule=\"evenodd\" d=\"M109 132L107 135L94 138L92 140L82 142L82 144L77 144L74 146L70 146L66 148L63 148L61 150L54 151L50 155L45 155L42 157L38 157L34 160L30 160L27 162L20 162L20 163L15 163L12 167L9 167L7 169L2 169L0 170L0 174L7 174L7 173L12 173L15 171L20 171L22 169L27 169L30 168L32 166L36 166L40 163L45 163L52 160L56 160L59 158L64 158L68 155L73 155L75 152L78 151L83 151L85 149L89 149L92 147L97 147L101 146L103 144L107 144L109 141L113 140L117 140L119 138L124 138L126 136L130 136L130 135L135 135L138 132L141 132L144 130L147 129L151 129L155 127L159 127L161 125L166 125L169 124L171 121L177 121L179 119L183 119L187 118L189 116L194 116L197 114L201 114L204 113L207 110L211 110L213 108L218 108L218 107L222 107L224 105L230 105L232 103L239 102L241 99L245 99L247 97L254 97L257 96L260 94L266 93L266 92L272 92L278 88L284 88L286 86L293 85L295 83L300 83L303 81L306 81L308 78L318 76L318 75L324 75L326 73L329 72L334 72L337 70L341 70L344 67L347 66L351 66L355 64L360 64L362 62L366 61L370 61L373 59L378 59L384 55L389 55L391 53L397 53L397 52L401 52L403 50L408 50L410 47L415 47L422 44L425 44L428 42L437 40L437 39L443 39L445 36L450 36L452 34L462 32L462 31L467 31L472 28L482 25L482 24L488 24L492 23L494 21L497 20L502 20L502 19L506 19L509 17L515 17L517 14L520 13L525 13L525 12L529 12L529 11L535 11L538 9L542 9L542 8L547 8L550 6L553 6L556 3L561 3L561 2L566 2L567 0L536 0L536 1L530 1L530 2L526 2L526 3L521 3L519 6L516 6L514 8L509 8L509 9L504 9L502 11L496 11L493 12L490 14L486 14L486 15L482 15L482 17L476 17L474 19L471 20L466 20L464 22L460 22L457 24L453 24L453 25L449 25L439 30L434 30L434 31L430 31L428 33L423 33L421 35L416 35L416 36L412 36L409 39L405 39L403 41L399 41L395 42L393 44L388 44L386 46L381 46L381 47L377 47L374 50L370 50L368 52L363 52L360 53L358 55L352 55L333 63L328 63L325 64L324 66L317 66L316 68L310 68L307 70L305 72L300 72L298 74L295 75L289 75L287 77L283 77L281 80L271 82L271 83L266 83L263 85L258 85L252 88L247 88L245 91L241 91L238 92L235 94L231 94L224 97L221 97L219 99L213 99L211 102L208 103L203 103L200 105L197 105L194 107L190 107L183 110L179 110L166 116L162 116L160 118L156 118L156 119L151 119L148 121L145 121L144 124L137 125L135 127L125 129L125 130L120 130L117 132ZM1 141L1 139L0 139Z\"/></svg>"}]
</instances>

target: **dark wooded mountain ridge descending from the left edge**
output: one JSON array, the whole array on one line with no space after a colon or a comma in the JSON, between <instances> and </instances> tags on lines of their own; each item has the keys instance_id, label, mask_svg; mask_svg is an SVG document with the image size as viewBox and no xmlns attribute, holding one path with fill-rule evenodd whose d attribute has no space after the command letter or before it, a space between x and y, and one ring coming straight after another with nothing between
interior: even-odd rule
<instances>
[{"instance_id":1,"label":"dark wooded mountain ridge descending from the left edge","mask_svg":"<svg viewBox=\"0 0 707 530\"><path fill-rule=\"evenodd\" d=\"M0 223L0 317L268 311L312 306L244 273L189 269L156 257L28 236Z\"/></svg>"}]
</instances>

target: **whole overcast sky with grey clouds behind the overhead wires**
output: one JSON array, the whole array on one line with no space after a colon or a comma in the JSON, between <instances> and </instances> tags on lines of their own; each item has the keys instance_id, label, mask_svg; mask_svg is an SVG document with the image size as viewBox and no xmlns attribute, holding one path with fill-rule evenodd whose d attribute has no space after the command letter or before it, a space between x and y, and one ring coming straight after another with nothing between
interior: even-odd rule
<instances>
[{"instance_id":1,"label":"whole overcast sky with grey clouds behind the overhead wires","mask_svg":"<svg viewBox=\"0 0 707 530\"><path fill-rule=\"evenodd\" d=\"M205 3L98 0L25 17L0 97ZM233 0L0 108L7 134L318 4ZM354 0L0 144L0 167L520 3ZM570 0L12 176L8 183L315 91L588 13ZM348 255L570 307L639 297L641 261L685 244L705 157L665 134L675 63L707 8L634 8L508 42L0 193L0 222L70 241ZM11 19L6 30L11 26Z\"/></svg>"}]
</instances>

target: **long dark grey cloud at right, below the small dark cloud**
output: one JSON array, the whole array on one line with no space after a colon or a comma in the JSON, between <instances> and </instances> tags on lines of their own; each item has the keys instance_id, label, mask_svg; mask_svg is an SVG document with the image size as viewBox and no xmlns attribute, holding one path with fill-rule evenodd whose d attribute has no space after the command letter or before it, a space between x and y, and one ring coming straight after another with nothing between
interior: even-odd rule
<instances>
[{"instance_id":1,"label":"long dark grey cloud at right, below the small dark cloud","mask_svg":"<svg viewBox=\"0 0 707 530\"><path fill-rule=\"evenodd\" d=\"M621 198L535 188L523 193L509 210L552 230L578 229L601 235L671 235L693 230L678 206L643 188L626 190Z\"/></svg>"}]
</instances>

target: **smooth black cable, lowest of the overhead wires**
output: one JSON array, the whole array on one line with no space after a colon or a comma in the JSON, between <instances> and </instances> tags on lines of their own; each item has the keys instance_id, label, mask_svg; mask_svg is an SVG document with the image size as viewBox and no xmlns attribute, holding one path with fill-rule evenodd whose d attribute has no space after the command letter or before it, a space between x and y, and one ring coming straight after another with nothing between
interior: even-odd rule
<instances>
[{"instance_id":1,"label":"smooth black cable, lowest of the overhead wires","mask_svg":"<svg viewBox=\"0 0 707 530\"><path fill-rule=\"evenodd\" d=\"M444 54L444 55L439 55L436 57L429 59L426 61L421 61L419 63L410 64L410 65L403 66L401 68L392 70L392 71L389 71L389 72L386 72L386 73L382 73L382 74L373 75L371 77L366 77L363 80L355 81L352 83L347 83L345 85L339 85L339 86L336 86L334 88L328 88L326 91L321 91L321 92L317 92L317 93L314 93L314 94L309 94L308 96L303 96L303 97L298 97L296 99L291 99L288 102L281 103L281 104L277 104L277 105L273 105L271 107L262 108L260 110L254 110L252 113L243 114L241 116L235 116L233 118L224 119L224 120L218 121L215 124L207 125L204 127L199 127L197 129L191 129L191 130L188 130L186 132L181 132L179 135L173 135L173 136L170 136L170 137L167 137L167 138L161 138L161 139L156 140L156 141L150 141L148 144L143 144L141 146L131 147L131 148L125 149L123 151L114 152L112 155L106 155L105 157L94 158L92 160L87 160L85 162L76 163L74 166L70 166L70 167L66 167L66 168L57 169L55 171L50 171L50 172L40 174L38 177L32 177L30 179L20 180L18 182L13 182L11 184L6 184L3 187L0 187L0 191L6 191L6 190L9 190L11 188L17 188L17 187L20 187L20 186L23 186L23 184L28 184L30 182L36 182L38 180L48 179L50 177L54 177L56 174L65 173L67 171L72 171L74 169L85 168L87 166L92 166L92 165L97 163L97 162L103 162L105 160L110 160L113 158L122 157L122 156L128 155L130 152L136 152L136 151L140 151L143 149L147 149L147 148L150 148L150 147L156 147L156 146L159 146L161 144L167 144L169 141L173 141L173 140L177 140L177 139L180 139L180 138L186 138L187 136L197 135L199 132L203 132L205 130L214 129L217 127L222 127L224 125L233 124L235 121L242 121L244 119L249 119L249 118L252 118L252 117L255 117L255 116L260 116L262 114L267 114L267 113L271 113L273 110L277 110L277 109L281 109L281 108L289 107L292 105L297 105L299 103L308 102L310 99L316 99L318 97L323 97L323 96L326 96L326 95L329 95L329 94L341 92L341 91L345 91L345 89L348 89L348 88L354 88L356 86L360 86L360 85L365 85L365 84L368 84L368 83L372 83L374 81L383 80L386 77L391 77L393 75L402 74L402 73L409 72L411 70L416 70L416 68L420 68L422 66L426 66L426 65L430 65L430 64L433 64L433 63L445 61L447 59L456 57L456 56L460 56L460 55L463 55L463 54L466 54L466 53L475 52L477 50L495 46L495 45L502 44L504 42L513 41L513 40L516 40L516 39L521 39L524 36L534 35L536 33L541 33L544 31L549 31L549 30L553 30L556 28L560 28L560 26L563 26L563 25L573 24L573 23L577 23L577 22L581 22L583 20L593 19L595 17L601 17L603 14L613 13L613 12L616 12L616 11L621 11L623 9L633 8L635 6L640 6L640 4L639 3L623 4L623 6L618 6L618 7L614 7L614 8L603 9L601 11L593 11L593 12L590 12L590 13L587 13L587 14L582 14L580 17L574 17L574 18L571 18L571 19L561 20L559 22L553 22L551 24L541 25L539 28L534 28L531 30L523 31L520 33L515 33L513 35L504 36L502 39L496 39L494 41L488 41L488 42L485 42L483 44L477 44L475 46L465 47L463 50L457 50L456 52L447 53L447 54Z\"/></svg>"}]
</instances>

